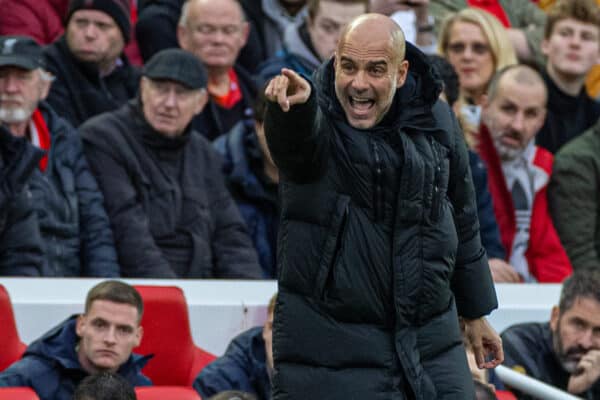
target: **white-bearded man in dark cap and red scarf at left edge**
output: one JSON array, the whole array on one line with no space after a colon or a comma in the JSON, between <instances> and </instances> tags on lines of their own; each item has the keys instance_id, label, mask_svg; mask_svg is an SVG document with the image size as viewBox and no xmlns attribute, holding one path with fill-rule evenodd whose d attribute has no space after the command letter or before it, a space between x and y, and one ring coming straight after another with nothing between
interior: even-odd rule
<instances>
[{"instance_id":1,"label":"white-bearded man in dark cap and red scarf at left edge","mask_svg":"<svg viewBox=\"0 0 600 400\"><path fill-rule=\"evenodd\" d=\"M46 151L29 179L45 247L43 276L119 276L102 194L73 127L43 100L52 76L41 47L0 37L0 122Z\"/></svg>"}]
</instances>

